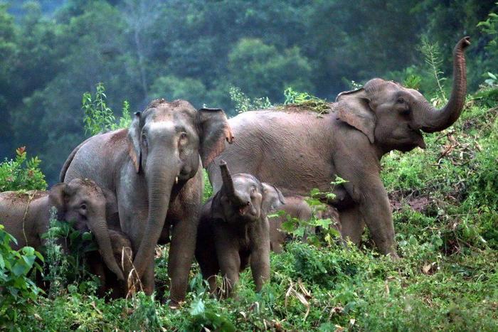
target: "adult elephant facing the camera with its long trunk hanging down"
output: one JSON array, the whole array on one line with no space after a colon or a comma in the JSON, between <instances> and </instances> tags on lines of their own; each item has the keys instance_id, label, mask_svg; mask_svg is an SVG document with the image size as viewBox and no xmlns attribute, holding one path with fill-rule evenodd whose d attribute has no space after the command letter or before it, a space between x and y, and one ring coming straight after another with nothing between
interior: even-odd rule
<instances>
[{"instance_id":1,"label":"adult elephant facing the camera with its long trunk hanging down","mask_svg":"<svg viewBox=\"0 0 498 332\"><path fill-rule=\"evenodd\" d=\"M117 196L120 226L132 242L134 268L154 290L154 247L169 240L171 304L184 299L194 257L203 190L202 165L232 141L222 109L154 100L129 129L90 137L69 156L61 181L91 177Z\"/></svg>"}]
</instances>

